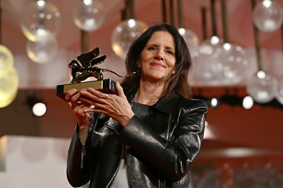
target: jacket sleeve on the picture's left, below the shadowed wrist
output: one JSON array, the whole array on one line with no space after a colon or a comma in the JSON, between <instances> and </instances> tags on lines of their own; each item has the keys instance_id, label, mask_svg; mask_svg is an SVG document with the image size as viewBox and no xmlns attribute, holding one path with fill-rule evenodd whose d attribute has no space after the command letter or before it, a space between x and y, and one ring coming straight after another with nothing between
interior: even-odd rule
<instances>
[{"instance_id":1,"label":"jacket sleeve on the picture's left, below the shadowed wrist","mask_svg":"<svg viewBox=\"0 0 283 188\"><path fill-rule=\"evenodd\" d=\"M76 125L71 139L67 157L67 179L72 187L81 187L88 183L90 179L90 142L91 130L93 129L94 116L91 117L88 139L86 141L85 155L82 150L82 143L78 138L79 126ZM82 158L83 157L83 158Z\"/></svg>"}]
</instances>

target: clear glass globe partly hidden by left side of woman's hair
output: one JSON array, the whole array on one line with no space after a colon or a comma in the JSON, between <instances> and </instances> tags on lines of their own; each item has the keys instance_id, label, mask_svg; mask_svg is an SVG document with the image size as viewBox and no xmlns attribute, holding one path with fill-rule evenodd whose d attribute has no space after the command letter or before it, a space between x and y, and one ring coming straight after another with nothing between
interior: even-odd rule
<instances>
[{"instance_id":1,"label":"clear glass globe partly hidden by left side of woman's hair","mask_svg":"<svg viewBox=\"0 0 283 188\"><path fill-rule=\"evenodd\" d=\"M126 19L112 31L111 46L114 53L125 59L130 44L144 32L148 26L141 20Z\"/></svg>"}]
</instances>

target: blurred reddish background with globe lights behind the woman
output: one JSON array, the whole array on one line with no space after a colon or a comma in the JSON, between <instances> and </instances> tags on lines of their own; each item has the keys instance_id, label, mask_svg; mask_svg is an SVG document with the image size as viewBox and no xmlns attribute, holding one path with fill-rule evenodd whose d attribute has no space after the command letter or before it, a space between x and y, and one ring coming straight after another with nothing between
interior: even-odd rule
<instances>
[{"instance_id":1,"label":"blurred reddish background with globe lights behind the woman","mask_svg":"<svg viewBox=\"0 0 283 188\"><path fill-rule=\"evenodd\" d=\"M76 120L56 96L69 62L100 47L97 66L125 75L130 42L167 22L209 105L195 187L283 188L283 0L0 0L0 10L0 187L70 187Z\"/></svg>"}]
</instances>

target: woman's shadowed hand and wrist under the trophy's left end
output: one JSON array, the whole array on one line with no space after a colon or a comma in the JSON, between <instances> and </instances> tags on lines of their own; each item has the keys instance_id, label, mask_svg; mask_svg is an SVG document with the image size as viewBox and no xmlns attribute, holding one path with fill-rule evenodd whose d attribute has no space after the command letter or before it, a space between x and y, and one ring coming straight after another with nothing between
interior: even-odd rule
<instances>
[{"instance_id":1,"label":"woman's shadowed hand and wrist under the trophy's left end","mask_svg":"<svg viewBox=\"0 0 283 188\"><path fill-rule=\"evenodd\" d=\"M65 96L65 99L71 103L71 109L73 110L77 119L79 125L79 138L82 142L87 140L91 119L91 113L85 112L85 110L90 108L91 105L82 102L81 100L85 97L84 91L86 91L86 89L83 89L77 93L75 89L72 89Z\"/></svg>"}]
</instances>

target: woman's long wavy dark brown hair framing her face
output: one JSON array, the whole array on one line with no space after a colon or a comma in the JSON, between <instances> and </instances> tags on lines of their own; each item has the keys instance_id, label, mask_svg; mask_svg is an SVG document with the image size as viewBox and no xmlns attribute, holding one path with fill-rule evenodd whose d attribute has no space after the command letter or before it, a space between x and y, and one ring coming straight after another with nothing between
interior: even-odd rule
<instances>
[{"instance_id":1,"label":"woman's long wavy dark brown hair framing her face","mask_svg":"<svg viewBox=\"0 0 283 188\"><path fill-rule=\"evenodd\" d=\"M172 71L171 74L169 74L170 76L165 80L163 92L160 97L166 98L177 94L184 98L192 98L193 94L188 79L192 67L190 51L183 37L179 34L177 29L170 24L162 23L150 27L130 45L125 59L127 74L139 70L138 63L141 61L141 52L152 34L156 31L166 31L173 36L176 58L176 63L173 68L175 74L172 74ZM136 94L140 86L140 75L124 78L121 86L124 89L124 94Z\"/></svg>"}]
</instances>

